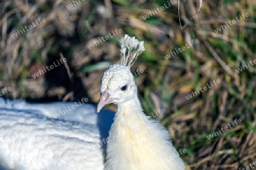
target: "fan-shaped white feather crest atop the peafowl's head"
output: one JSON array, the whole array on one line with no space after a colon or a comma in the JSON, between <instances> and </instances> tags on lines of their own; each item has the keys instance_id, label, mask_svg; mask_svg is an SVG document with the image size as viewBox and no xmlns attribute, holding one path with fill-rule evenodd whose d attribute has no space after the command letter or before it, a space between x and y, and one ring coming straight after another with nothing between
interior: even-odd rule
<instances>
[{"instance_id":1,"label":"fan-shaped white feather crest atop the peafowl's head","mask_svg":"<svg viewBox=\"0 0 256 170\"><path fill-rule=\"evenodd\" d=\"M141 54L144 49L144 41L139 41L135 37L130 37L125 35L122 39L119 40L121 45L121 65L131 67L136 61L139 54ZM126 55L127 52L127 55Z\"/></svg>"}]
</instances>

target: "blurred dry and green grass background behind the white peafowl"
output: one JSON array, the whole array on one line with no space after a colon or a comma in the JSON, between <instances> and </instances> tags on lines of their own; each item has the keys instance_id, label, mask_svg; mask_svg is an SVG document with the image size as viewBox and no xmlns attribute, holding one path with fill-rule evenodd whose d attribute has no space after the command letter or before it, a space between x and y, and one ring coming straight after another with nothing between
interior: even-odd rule
<instances>
[{"instance_id":1,"label":"blurred dry and green grass background behind the white peafowl","mask_svg":"<svg viewBox=\"0 0 256 170\"><path fill-rule=\"evenodd\" d=\"M0 2L0 88L12 88L5 98L49 102L88 97L89 103L96 104L101 76L108 66L119 62L118 40L128 33L143 40L146 48L131 67L132 72L143 69L135 80L144 112L150 115L165 109L158 119L170 130L177 150L187 150L180 155L187 169L242 169L256 161L256 66L236 72L256 59L256 1L204 0L200 12L182 31L177 3L143 19L154 8L168 6L165 0L80 0L68 9L69 3L73 2ZM180 1L182 25L199 5L200 1ZM221 32L214 31L243 12L250 16ZM46 22L11 37L38 18ZM122 33L88 48L115 28ZM192 39L199 44L164 59ZM60 65L32 77L59 60L61 53L68 67ZM221 83L192 99L185 98L213 79ZM213 131L236 119L242 124L208 140Z\"/></svg>"}]
</instances>

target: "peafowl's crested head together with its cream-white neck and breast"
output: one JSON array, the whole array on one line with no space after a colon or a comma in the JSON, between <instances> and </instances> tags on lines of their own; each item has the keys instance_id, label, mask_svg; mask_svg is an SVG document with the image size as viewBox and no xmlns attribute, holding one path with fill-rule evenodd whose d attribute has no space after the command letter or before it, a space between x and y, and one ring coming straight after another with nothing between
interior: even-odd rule
<instances>
[{"instance_id":1,"label":"peafowl's crested head together with its cream-white neck and breast","mask_svg":"<svg viewBox=\"0 0 256 170\"><path fill-rule=\"evenodd\" d=\"M106 104L117 105L109 131L105 170L185 169L168 131L143 113L137 96L130 67L143 52L143 41L126 35L120 42L121 64L110 66L102 76L97 107L100 112Z\"/></svg>"}]
</instances>

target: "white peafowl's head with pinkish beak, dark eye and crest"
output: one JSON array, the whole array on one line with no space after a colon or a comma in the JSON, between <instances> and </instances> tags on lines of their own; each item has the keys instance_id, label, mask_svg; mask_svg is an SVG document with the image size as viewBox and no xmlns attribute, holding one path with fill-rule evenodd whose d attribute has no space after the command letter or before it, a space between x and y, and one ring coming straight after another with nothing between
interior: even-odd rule
<instances>
[{"instance_id":1,"label":"white peafowl's head with pinkish beak, dark eye and crest","mask_svg":"<svg viewBox=\"0 0 256 170\"><path fill-rule=\"evenodd\" d=\"M97 112L100 112L106 104L125 103L137 95L137 86L130 67L143 52L144 42L129 35L125 35L119 42L121 43L121 62L110 66L102 76Z\"/></svg>"}]
</instances>

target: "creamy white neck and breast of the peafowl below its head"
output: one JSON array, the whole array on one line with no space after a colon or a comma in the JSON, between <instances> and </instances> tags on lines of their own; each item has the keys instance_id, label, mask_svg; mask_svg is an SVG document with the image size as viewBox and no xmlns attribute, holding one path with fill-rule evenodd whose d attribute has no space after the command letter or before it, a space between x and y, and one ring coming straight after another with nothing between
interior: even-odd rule
<instances>
[{"instance_id":1,"label":"creamy white neck and breast of the peafowl below its head","mask_svg":"<svg viewBox=\"0 0 256 170\"><path fill-rule=\"evenodd\" d=\"M105 170L185 169L168 131L148 120L137 96L117 106L109 139Z\"/></svg>"}]
</instances>

